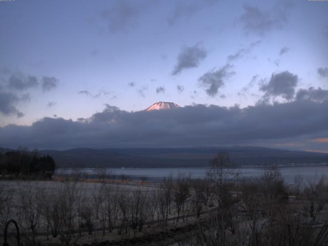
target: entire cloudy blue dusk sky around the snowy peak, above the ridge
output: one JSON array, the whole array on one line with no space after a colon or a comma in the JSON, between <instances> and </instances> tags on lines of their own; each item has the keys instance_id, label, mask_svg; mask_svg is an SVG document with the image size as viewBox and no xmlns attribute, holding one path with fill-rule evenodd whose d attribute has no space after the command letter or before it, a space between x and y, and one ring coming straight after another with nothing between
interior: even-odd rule
<instances>
[{"instance_id":1,"label":"entire cloudy blue dusk sky around the snowy peak, above the ridge","mask_svg":"<svg viewBox=\"0 0 328 246\"><path fill-rule=\"evenodd\" d=\"M328 153L328 1L0 1L0 146ZM143 112L157 101L180 109Z\"/></svg>"}]
</instances>

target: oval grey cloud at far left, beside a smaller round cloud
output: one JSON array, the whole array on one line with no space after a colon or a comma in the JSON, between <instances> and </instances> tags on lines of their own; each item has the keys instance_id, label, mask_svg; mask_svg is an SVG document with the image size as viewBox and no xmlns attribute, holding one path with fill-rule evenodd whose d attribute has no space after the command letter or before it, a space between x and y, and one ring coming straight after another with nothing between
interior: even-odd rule
<instances>
[{"instance_id":1,"label":"oval grey cloud at far left, beside a smaller round cloud","mask_svg":"<svg viewBox=\"0 0 328 246\"><path fill-rule=\"evenodd\" d=\"M38 87L38 85L37 77L32 75L16 73L11 75L8 79L8 87L14 90L27 90L29 88Z\"/></svg>"}]
</instances>

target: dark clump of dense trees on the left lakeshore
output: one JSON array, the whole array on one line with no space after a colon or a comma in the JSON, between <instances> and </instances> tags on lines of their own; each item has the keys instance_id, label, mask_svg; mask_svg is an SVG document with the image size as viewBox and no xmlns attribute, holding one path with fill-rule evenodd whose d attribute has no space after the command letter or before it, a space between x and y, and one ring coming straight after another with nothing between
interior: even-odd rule
<instances>
[{"instance_id":1,"label":"dark clump of dense trees on the left lakeshore","mask_svg":"<svg viewBox=\"0 0 328 246\"><path fill-rule=\"evenodd\" d=\"M18 149L0 153L0 175L2 177L51 178L56 169L53 158L39 156L37 150Z\"/></svg>"}]
</instances>

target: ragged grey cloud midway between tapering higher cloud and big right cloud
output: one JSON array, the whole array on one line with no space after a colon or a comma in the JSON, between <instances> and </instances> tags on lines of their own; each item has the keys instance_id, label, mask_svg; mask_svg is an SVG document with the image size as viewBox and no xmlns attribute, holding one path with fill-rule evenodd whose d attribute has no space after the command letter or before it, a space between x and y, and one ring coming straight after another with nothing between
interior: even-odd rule
<instances>
[{"instance_id":1,"label":"ragged grey cloud midway between tapering higher cloud and big right cloud","mask_svg":"<svg viewBox=\"0 0 328 246\"><path fill-rule=\"evenodd\" d=\"M224 85L226 79L235 74L234 71L230 71L231 65L227 64L216 71L210 71L203 74L198 78L198 83L200 86L206 88L206 93L209 96L215 96L218 90Z\"/></svg>"}]
</instances>

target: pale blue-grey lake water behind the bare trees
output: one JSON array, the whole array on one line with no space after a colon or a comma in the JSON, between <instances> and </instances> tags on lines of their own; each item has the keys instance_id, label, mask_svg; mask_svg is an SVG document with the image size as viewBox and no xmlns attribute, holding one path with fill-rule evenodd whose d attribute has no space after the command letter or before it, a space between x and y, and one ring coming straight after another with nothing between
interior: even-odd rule
<instances>
[{"instance_id":1,"label":"pale blue-grey lake water behind the bare trees","mask_svg":"<svg viewBox=\"0 0 328 246\"><path fill-rule=\"evenodd\" d=\"M296 175L301 175L304 181L308 180L310 182L318 181L323 175L328 177L328 166L326 165L282 166L279 168L286 183L294 183ZM145 177L150 181L158 181L169 175L176 178L179 173L185 173L192 178L203 178L206 175L207 168L112 168L110 170L115 173L117 179L120 179L121 175L126 175L131 180ZM239 173L239 178L257 177L263 173L263 170L264 167L241 167L233 169L234 172ZM92 168L78 169L78 172L96 176L96 170ZM56 170L55 175L71 175L76 173L77 169L59 168Z\"/></svg>"}]
</instances>

